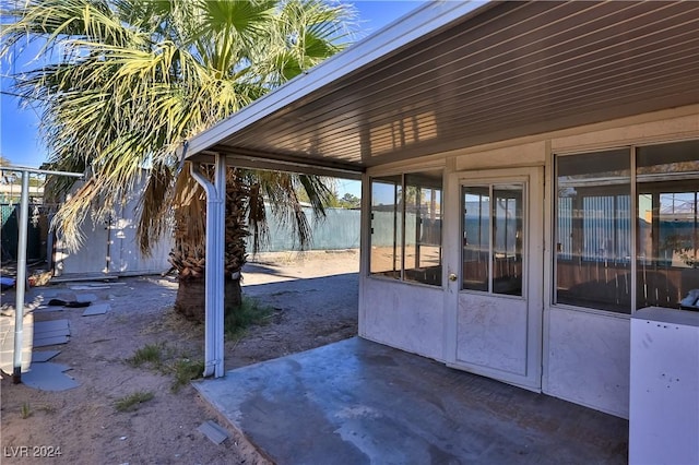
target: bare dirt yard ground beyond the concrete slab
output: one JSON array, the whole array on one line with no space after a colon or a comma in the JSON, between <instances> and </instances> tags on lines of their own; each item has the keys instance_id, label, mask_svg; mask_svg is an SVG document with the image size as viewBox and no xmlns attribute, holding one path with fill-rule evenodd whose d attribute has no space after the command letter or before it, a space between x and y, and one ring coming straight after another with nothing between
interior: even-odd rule
<instances>
[{"instance_id":1,"label":"bare dirt yard ground beyond the concrete slab","mask_svg":"<svg viewBox=\"0 0 699 465\"><path fill-rule=\"evenodd\" d=\"M244 270L244 294L274 311L264 325L226 341L225 365L233 369L324 344L357 333L357 251L262 254ZM303 279L301 279L303 278ZM79 283L37 287L72 300ZM68 319L68 344L51 361L80 386L61 392L0 384L0 463L71 464L266 464L268 461L211 408L189 383L173 390L175 375L153 363L134 367L127 359L146 345L158 345L173 360L203 359L203 326L176 315L177 282L171 277L120 278L107 289L90 290L110 310L82 317L66 308L35 314L35 321ZM31 301L27 299L27 301ZM14 301L2 294L2 303ZM138 409L119 412L119 400L135 392L154 394ZM229 438L216 445L198 431L214 420ZM26 449L24 449L26 448ZM55 457L46 455L60 452ZM22 456L17 456L22 455Z\"/></svg>"}]
</instances>

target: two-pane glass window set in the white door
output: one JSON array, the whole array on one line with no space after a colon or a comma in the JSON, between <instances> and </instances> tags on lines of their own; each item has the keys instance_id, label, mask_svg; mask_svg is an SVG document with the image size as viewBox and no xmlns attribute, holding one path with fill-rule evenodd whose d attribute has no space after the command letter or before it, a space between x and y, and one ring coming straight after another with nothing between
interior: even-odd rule
<instances>
[{"instance_id":1,"label":"two-pane glass window set in the white door","mask_svg":"<svg viewBox=\"0 0 699 465\"><path fill-rule=\"evenodd\" d=\"M524 186L467 186L461 192L461 288L522 296Z\"/></svg>"}]
</instances>

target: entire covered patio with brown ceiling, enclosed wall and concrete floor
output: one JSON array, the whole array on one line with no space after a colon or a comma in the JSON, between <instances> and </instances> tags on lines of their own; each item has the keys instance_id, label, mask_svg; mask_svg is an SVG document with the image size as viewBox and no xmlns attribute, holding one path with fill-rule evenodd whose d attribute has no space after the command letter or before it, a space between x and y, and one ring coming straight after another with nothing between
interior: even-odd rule
<instances>
[{"instance_id":1,"label":"entire covered patio with brown ceiling, enclosed wall and concrete floor","mask_svg":"<svg viewBox=\"0 0 699 465\"><path fill-rule=\"evenodd\" d=\"M631 367L636 312L699 289L657 234L661 200L697 212L698 13L426 2L188 141L216 171L205 374L226 379L202 394L281 463L626 462L628 418L631 463L696 463L696 350L653 347L661 372L690 360L689 388L661 390L684 424L629 393L654 374ZM362 339L225 373L226 166L362 179Z\"/></svg>"}]
</instances>

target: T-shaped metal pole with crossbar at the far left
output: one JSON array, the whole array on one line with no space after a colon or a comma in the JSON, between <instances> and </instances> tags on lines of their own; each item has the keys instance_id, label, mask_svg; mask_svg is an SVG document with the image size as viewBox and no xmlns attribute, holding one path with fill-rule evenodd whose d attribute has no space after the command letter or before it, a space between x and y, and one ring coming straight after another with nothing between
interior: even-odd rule
<instances>
[{"instance_id":1,"label":"T-shaped metal pole with crossbar at the far left","mask_svg":"<svg viewBox=\"0 0 699 465\"><path fill-rule=\"evenodd\" d=\"M7 166L2 169L22 172L22 195L20 200L20 240L17 243L17 275L14 283L16 293L14 301L14 347L12 354L12 382L22 382L22 337L24 333L24 295L26 290L26 243L29 223L29 172L39 175L58 175L82 178L79 172L49 171L45 169Z\"/></svg>"}]
</instances>

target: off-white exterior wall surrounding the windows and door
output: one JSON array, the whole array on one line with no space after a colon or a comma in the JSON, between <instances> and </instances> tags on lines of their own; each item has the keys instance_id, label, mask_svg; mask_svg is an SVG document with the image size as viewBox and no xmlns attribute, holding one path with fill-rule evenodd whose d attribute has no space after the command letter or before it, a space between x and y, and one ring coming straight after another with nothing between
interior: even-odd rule
<instances>
[{"instance_id":1,"label":"off-white exterior wall surrounding the windows and door","mask_svg":"<svg viewBox=\"0 0 699 465\"><path fill-rule=\"evenodd\" d=\"M533 135L487 146L469 147L430 156L418 163L393 163L372 168L365 177L364 211L369 207L370 176L400 174L420 169L424 165L445 167L450 174L508 167L544 166L546 169L544 212L544 273L533 276L543 287L543 373L542 391L573 403L628 418L630 317L565 306L553 306L552 222L553 154L573 153L595 148L613 148L635 144L666 143L699 138L699 105L639 115L587 127L571 128L556 133ZM423 166L420 166L423 165ZM455 187L445 190L446 204L454 195ZM449 214L449 207L446 214ZM457 234L460 222L445 218L445 237ZM360 281L360 335L372 341L437 360L452 358L449 344L454 337L447 314L448 293L425 286L393 283L368 277L369 219L363 216L363 260ZM447 230L450 228L450 230ZM443 257L459 257L454 240L445 240ZM455 254L455 255L454 255ZM446 263L448 267L448 263ZM445 275L446 276L446 275ZM441 318L441 319L440 319Z\"/></svg>"}]
</instances>

